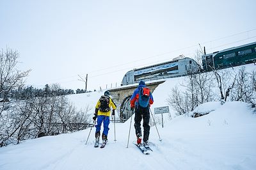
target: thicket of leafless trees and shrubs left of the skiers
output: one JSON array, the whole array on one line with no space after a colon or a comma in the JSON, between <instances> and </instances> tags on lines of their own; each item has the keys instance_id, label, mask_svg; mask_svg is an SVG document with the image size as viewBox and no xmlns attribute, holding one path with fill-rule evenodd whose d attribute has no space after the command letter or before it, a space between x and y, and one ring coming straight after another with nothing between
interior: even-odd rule
<instances>
[{"instance_id":1,"label":"thicket of leafless trees and shrubs left of the skiers","mask_svg":"<svg viewBox=\"0 0 256 170\"><path fill-rule=\"evenodd\" d=\"M26 97L18 97L15 102L8 102L10 92L22 87L23 78L30 72L17 69L18 57L17 51L0 51L0 147L35 138L41 132L44 135L52 135L56 132L73 132L84 128L72 125L85 125L89 122L90 108L87 107L86 111L76 111L74 105L68 102L68 98L60 95L58 84L45 85L42 91L44 95L27 94ZM63 127L61 132L59 127Z\"/></svg>"}]
</instances>

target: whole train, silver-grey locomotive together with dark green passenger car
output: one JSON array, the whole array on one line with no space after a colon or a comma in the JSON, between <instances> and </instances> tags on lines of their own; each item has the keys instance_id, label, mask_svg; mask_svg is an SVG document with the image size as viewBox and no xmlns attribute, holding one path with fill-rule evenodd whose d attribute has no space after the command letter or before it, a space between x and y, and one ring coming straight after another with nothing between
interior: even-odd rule
<instances>
[{"instance_id":1,"label":"whole train, silver-grey locomotive together with dark green passenger car","mask_svg":"<svg viewBox=\"0 0 256 170\"><path fill-rule=\"evenodd\" d=\"M134 68L125 73L121 86L138 83L141 80L146 82L186 76L189 72L195 71L195 69L209 72L214 69L218 70L255 62L256 42L252 42L238 47L212 52L211 54L204 54L202 56L202 66L198 65L194 59L181 55L164 63Z\"/></svg>"}]
</instances>

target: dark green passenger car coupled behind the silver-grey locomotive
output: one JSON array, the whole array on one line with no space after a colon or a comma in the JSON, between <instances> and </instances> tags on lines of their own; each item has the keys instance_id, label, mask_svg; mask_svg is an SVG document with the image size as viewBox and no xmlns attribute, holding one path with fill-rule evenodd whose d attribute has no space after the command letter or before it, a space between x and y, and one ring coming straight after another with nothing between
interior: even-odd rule
<instances>
[{"instance_id":1,"label":"dark green passenger car coupled behind the silver-grey locomotive","mask_svg":"<svg viewBox=\"0 0 256 170\"><path fill-rule=\"evenodd\" d=\"M245 65L256 62L256 42L232 47L202 56L205 71Z\"/></svg>"}]
</instances>

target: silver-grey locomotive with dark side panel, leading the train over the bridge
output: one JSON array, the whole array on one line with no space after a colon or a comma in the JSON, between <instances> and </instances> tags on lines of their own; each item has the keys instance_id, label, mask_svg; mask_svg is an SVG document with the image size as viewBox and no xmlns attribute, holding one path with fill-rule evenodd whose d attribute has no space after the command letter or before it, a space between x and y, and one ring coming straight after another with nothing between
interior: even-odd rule
<instances>
[{"instance_id":1,"label":"silver-grey locomotive with dark side panel, leading the train over the bridge","mask_svg":"<svg viewBox=\"0 0 256 170\"><path fill-rule=\"evenodd\" d=\"M125 73L121 86L143 81L154 81L170 77L187 75L189 70L197 68L198 64L194 59L179 56L172 61L166 61L156 65L135 68Z\"/></svg>"}]
</instances>

